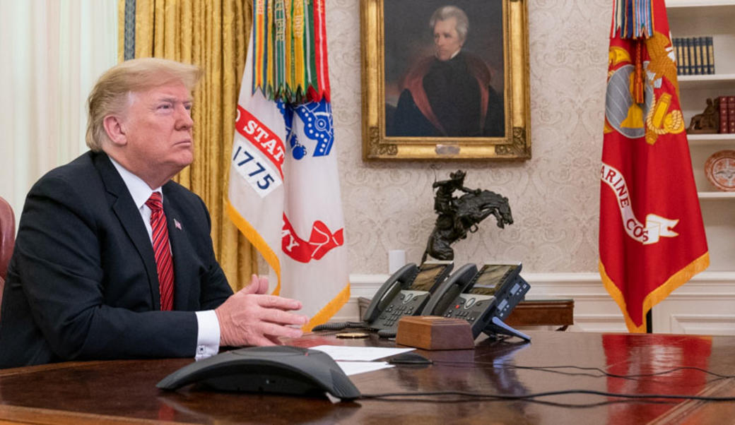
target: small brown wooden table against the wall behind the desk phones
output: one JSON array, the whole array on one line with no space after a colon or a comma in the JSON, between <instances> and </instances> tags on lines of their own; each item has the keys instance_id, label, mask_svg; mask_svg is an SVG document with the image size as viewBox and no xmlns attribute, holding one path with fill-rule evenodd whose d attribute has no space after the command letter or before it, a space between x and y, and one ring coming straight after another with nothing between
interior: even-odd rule
<instances>
[{"instance_id":1,"label":"small brown wooden table against the wall behind the desk phones","mask_svg":"<svg viewBox=\"0 0 735 425\"><path fill-rule=\"evenodd\" d=\"M360 318L368 305L370 298L357 299ZM512 327L559 326L557 330L567 330L567 327L574 324L574 300L525 299L515 306L505 322Z\"/></svg>"}]
</instances>

